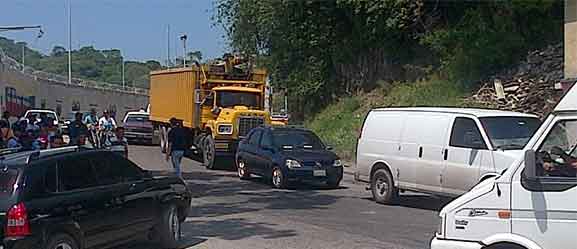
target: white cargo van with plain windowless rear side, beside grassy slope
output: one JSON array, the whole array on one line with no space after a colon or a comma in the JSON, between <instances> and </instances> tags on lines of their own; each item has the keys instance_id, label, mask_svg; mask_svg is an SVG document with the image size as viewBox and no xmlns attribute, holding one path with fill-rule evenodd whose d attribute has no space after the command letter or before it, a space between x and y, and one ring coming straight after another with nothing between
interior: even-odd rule
<instances>
[{"instance_id":1,"label":"white cargo van with plain windowless rear side, beside grassy slope","mask_svg":"<svg viewBox=\"0 0 577 249\"><path fill-rule=\"evenodd\" d=\"M496 110L375 109L359 136L355 179L370 183L379 203L404 190L459 196L507 168L539 125L534 115Z\"/></svg>"}]
</instances>

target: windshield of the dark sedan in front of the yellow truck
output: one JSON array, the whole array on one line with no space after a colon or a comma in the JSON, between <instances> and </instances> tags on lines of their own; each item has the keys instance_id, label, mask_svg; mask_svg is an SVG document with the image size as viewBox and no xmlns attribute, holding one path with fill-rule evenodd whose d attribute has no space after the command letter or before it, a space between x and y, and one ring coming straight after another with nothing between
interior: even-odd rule
<instances>
[{"instance_id":1,"label":"windshield of the dark sedan in front of the yellow truck","mask_svg":"<svg viewBox=\"0 0 577 249\"><path fill-rule=\"evenodd\" d=\"M273 140L275 147L285 150L322 150L325 148L319 137L307 131L275 131Z\"/></svg>"}]
</instances>

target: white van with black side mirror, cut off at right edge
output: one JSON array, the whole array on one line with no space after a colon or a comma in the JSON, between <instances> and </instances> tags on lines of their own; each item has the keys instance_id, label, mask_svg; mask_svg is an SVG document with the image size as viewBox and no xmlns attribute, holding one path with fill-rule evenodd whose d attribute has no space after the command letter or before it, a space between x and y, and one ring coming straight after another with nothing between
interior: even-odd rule
<instances>
[{"instance_id":1,"label":"white van with black side mirror, cut off at right edge","mask_svg":"<svg viewBox=\"0 0 577 249\"><path fill-rule=\"evenodd\" d=\"M432 249L577 248L577 88L503 175L449 203Z\"/></svg>"}]
</instances>

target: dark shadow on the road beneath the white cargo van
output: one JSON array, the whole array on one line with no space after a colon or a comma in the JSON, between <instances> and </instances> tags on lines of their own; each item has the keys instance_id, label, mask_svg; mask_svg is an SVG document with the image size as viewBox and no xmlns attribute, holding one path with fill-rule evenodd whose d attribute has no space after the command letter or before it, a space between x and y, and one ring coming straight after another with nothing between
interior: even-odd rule
<instances>
[{"instance_id":1,"label":"dark shadow on the road beneath the white cargo van","mask_svg":"<svg viewBox=\"0 0 577 249\"><path fill-rule=\"evenodd\" d=\"M362 198L374 202L372 197ZM399 199L394 204L389 204L389 206L400 206L407 208L415 208L429 211L441 211L444 206L449 204L453 199L429 196L429 195L400 195Z\"/></svg>"}]
</instances>

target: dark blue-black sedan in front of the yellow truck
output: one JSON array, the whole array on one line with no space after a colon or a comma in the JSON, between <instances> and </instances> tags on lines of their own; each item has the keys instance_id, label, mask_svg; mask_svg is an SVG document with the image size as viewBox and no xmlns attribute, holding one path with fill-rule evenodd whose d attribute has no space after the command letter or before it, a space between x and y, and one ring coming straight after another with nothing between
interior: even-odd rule
<instances>
[{"instance_id":1,"label":"dark blue-black sedan in front of the yellow truck","mask_svg":"<svg viewBox=\"0 0 577 249\"><path fill-rule=\"evenodd\" d=\"M240 142L236 164L238 175L269 178L276 188L290 181L322 181L338 187L343 165L312 131L300 128L258 127Z\"/></svg>"}]
</instances>

